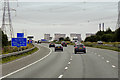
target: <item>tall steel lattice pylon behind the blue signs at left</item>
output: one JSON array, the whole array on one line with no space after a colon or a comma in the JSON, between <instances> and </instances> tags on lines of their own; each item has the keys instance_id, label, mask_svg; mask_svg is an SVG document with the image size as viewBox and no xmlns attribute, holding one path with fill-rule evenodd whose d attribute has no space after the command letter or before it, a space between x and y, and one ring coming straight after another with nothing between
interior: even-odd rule
<instances>
[{"instance_id":1,"label":"tall steel lattice pylon behind the blue signs at left","mask_svg":"<svg viewBox=\"0 0 120 80\"><path fill-rule=\"evenodd\" d=\"M5 34L7 34L8 38L14 37L9 0L4 0L4 3L3 3L3 18L2 18L1 29Z\"/></svg>"}]
</instances>

